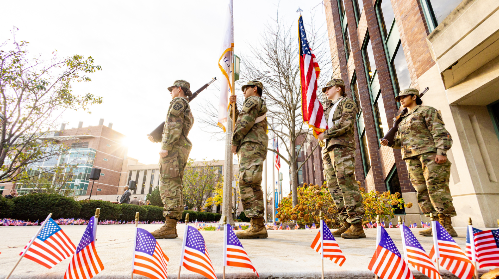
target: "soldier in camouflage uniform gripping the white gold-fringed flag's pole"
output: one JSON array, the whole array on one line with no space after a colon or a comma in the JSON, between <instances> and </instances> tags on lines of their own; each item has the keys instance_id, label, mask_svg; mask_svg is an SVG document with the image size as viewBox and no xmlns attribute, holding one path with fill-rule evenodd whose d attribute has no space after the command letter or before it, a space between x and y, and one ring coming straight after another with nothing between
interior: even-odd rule
<instances>
[{"instance_id":1,"label":"soldier in camouflage uniform gripping the white gold-fringed flag's pole","mask_svg":"<svg viewBox=\"0 0 499 279\"><path fill-rule=\"evenodd\" d=\"M232 152L239 157L239 189L241 202L250 227L238 232L240 239L266 238L263 212L263 191L261 190L261 173L263 161L267 156L268 136L267 107L261 99L263 85L251 80L243 85L245 102L241 112L237 109L236 96L231 96L232 106L236 106L236 127L232 138ZM231 113L232 119L232 113Z\"/></svg>"}]
</instances>

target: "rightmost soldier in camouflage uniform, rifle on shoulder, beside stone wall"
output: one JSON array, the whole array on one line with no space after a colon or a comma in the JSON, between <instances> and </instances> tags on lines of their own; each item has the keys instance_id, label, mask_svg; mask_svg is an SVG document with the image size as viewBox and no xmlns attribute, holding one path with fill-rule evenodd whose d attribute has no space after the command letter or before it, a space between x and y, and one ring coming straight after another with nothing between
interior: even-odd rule
<instances>
[{"instance_id":1,"label":"rightmost soldier in camouflage uniform, rifle on shoulder, beside stone wall","mask_svg":"<svg viewBox=\"0 0 499 279\"><path fill-rule=\"evenodd\" d=\"M402 115L399 131L392 148L402 148L411 183L418 192L419 207L426 216L438 214L439 221L452 237L458 236L451 225L451 217L456 216L449 190L451 162L447 151L451 148L452 138L444 127L440 113L423 103L419 91L414 88L399 93L395 101L400 102L408 112ZM382 145L388 145L386 139ZM432 236L432 230L419 232Z\"/></svg>"}]
</instances>

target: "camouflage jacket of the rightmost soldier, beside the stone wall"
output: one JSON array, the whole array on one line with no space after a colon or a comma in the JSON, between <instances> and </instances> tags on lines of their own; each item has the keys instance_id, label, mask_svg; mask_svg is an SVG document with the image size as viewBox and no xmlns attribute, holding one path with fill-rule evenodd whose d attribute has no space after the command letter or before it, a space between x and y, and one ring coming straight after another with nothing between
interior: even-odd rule
<instances>
[{"instance_id":1,"label":"camouflage jacket of the rightmost soldier, beside the stone wall","mask_svg":"<svg viewBox=\"0 0 499 279\"><path fill-rule=\"evenodd\" d=\"M416 106L402 116L392 147L402 148L404 159L427 152L446 156L447 150L451 148L452 138L444 125L442 116L436 109Z\"/></svg>"}]
</instances>

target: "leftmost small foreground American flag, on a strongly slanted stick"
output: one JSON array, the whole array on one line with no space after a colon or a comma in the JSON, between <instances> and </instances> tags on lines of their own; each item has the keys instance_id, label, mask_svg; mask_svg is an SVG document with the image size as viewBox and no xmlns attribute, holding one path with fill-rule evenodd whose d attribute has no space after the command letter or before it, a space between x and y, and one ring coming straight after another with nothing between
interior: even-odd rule
<instances>
[{"instance_id":1,"label":"leftmost small foreground American flag, on a strongly slanted stick","mask_svg":"<svg viewBox=\"0 0 499 279\"><path fill-rule=\"evenodd\" d=\"M76 250L69 237L52 218L49 218L45 222L38 236L29 242L32 242L29 249L26 251L28 243L19 256L24 253L24 258L36 262L47 269L51 269L62 260L71 257L74 250Z\"/></svg>"}]
</instances>

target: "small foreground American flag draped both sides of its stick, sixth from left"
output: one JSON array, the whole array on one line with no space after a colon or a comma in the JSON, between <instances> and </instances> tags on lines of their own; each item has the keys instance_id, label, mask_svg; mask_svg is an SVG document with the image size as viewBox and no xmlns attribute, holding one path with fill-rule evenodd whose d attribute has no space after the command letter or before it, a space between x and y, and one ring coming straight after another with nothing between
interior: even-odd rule
<instances>
[{"instance_id":1,"label":"small foreground American flag draped both sides of its stick, sixth from left","mask_svg":"<svg viewBox=\"0 0 499 279\"><path fill-rule=\"evenodd\" d=\"M321 220L320 230L317 232L310 247L315 252L320 253L322 258L329 258L329 260L334 261L340 267L346 260L324 220Z\"/></svg>"}]
</instances>

